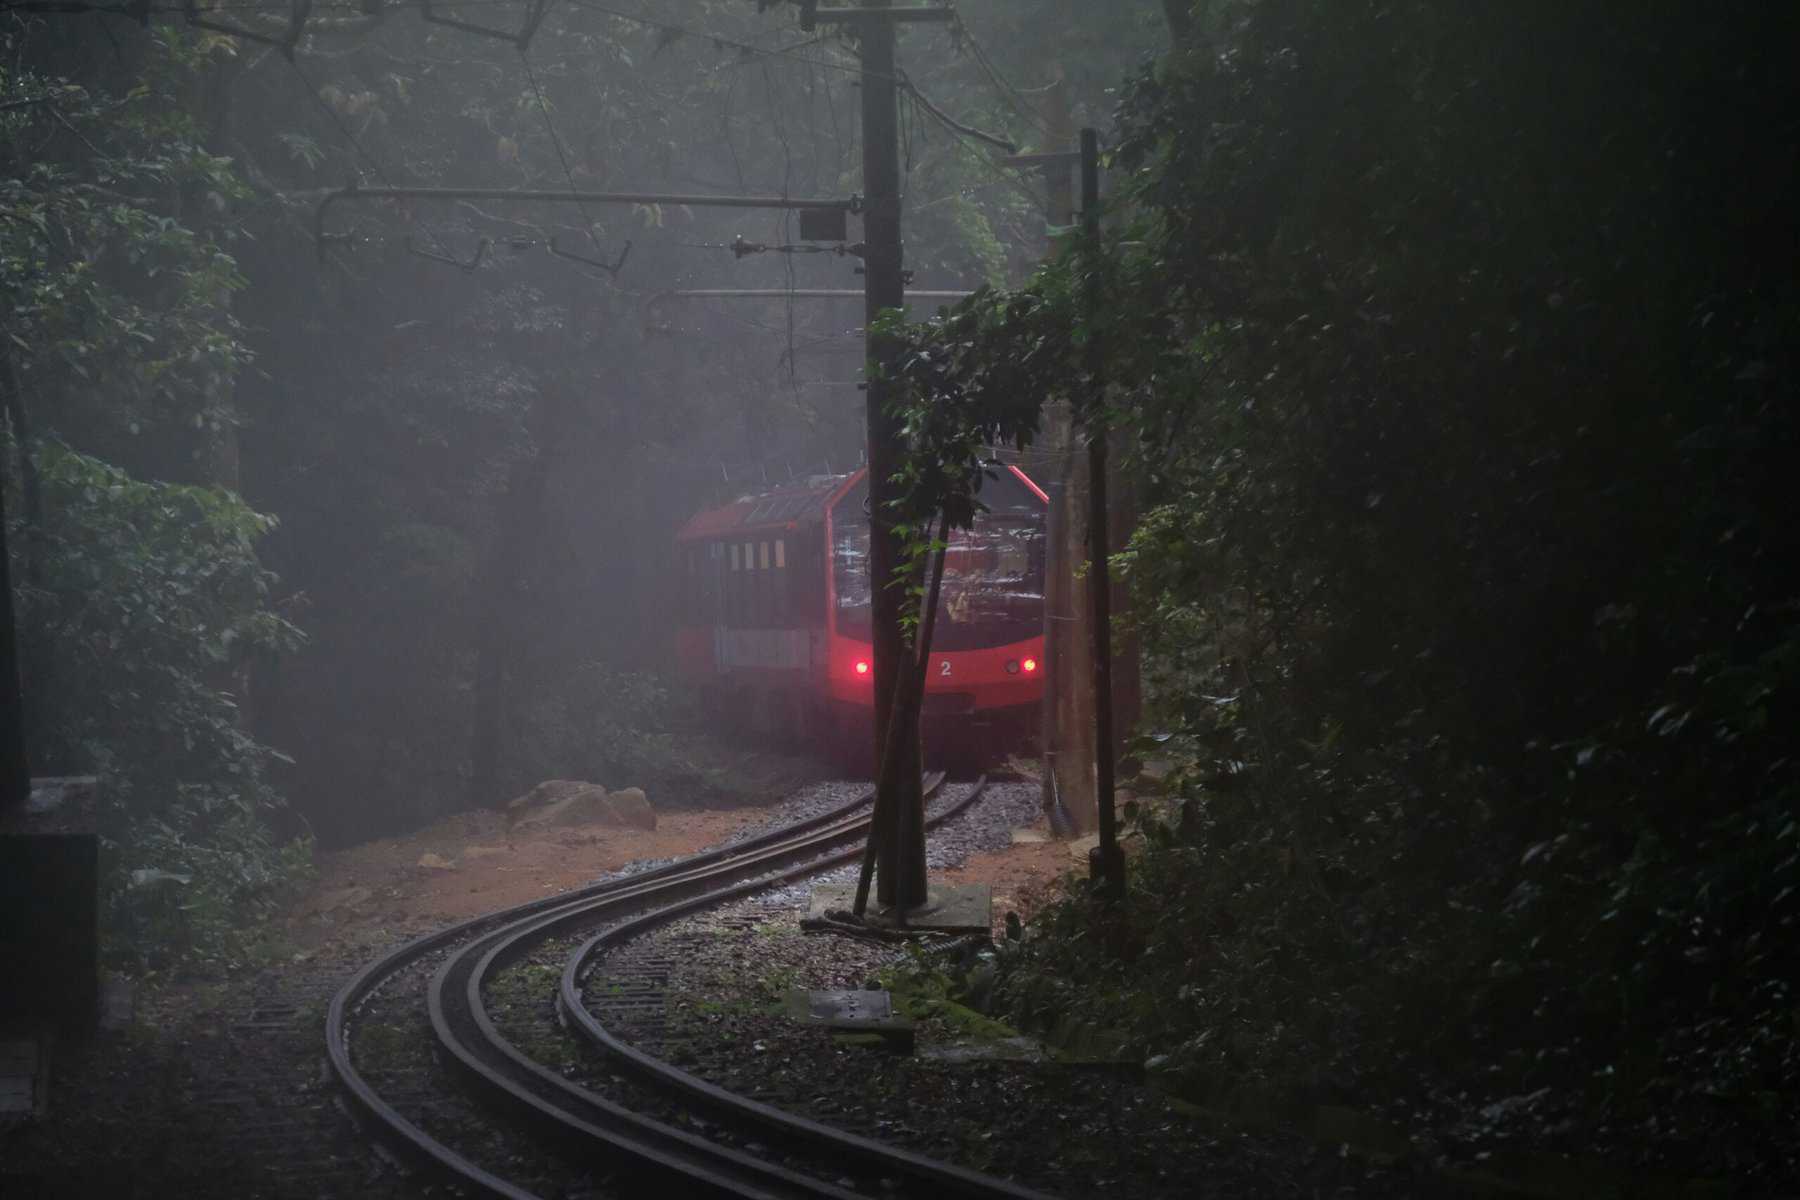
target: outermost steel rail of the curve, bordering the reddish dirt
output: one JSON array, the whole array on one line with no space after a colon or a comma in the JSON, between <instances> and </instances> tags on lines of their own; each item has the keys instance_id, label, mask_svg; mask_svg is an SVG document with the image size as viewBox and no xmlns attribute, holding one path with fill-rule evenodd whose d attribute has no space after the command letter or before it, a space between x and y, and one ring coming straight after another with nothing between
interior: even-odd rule
<instances>
[{"instance_id":1,"label":"outermost steel rail of the curve, bordering the reddish dirt","mask_svg":"<svg viewBox=\"0 0 1800 1200\"><path fill-rule=\"evenodd\" d=\"M454 925L446 925L441 930L403 943L401 946L391 950L389 954L369 961L360 972L356 972L349 979L349 982L346 982L337 991L337 995L331 997L331 1007L326 1013L326 1061L329 1063L331 1072L338 1078L338 1083L344 1085L344 1090L347 1092L351 1105L355 1108L360 1108L365 1117L373 1119L376 1126L389 1137L389 1141L398 1144L398 1148L403 1153L414 1157L416 1160L425 1162L432 1169L446 1171L461 1178L464 1184L472 1186L477 1191L477 1195L504 1196L506 1200L533 1200L531 1193L515 1187L504 1178L491 1175L475 1162L455 1153L454 1150L434 1139L430 1133L421 1130L418 1124L409 1121L405 1115L401 1115L385 1099L382 1099L380 1092L376 1092L374 1087L362 1076L362 1072L356 1070L356 1065L351 1060L349 1031L351 1031L351 1018L356 1007L367 997L371 997L391 975L398 973L400 970L407 968L409 964L416 963L427 954L432 954L434 950L446 946L454 943L457 937L463 937L477 928L504 921L517 921L520 918L544 912L547 909L554 909L560 905L578 903L581 900L601 896L625 887L637 887L646 880L664 878L684 871L693 871L695 867L704 864L725 862L729 858L745 853L754 853L765 846L774 846L783 838L794 837L799 831L815 829L842 820L855 810L869 804L871 799L873 793L864 793L855 801L837 804L823 813L814 813L812 817L806 817L803 820L796 820L788 826L770 829L767 833L745 838L736 844L727 844L709 851L700 851L698 855L679 858L671 864L664 864L662 867L653 867L650 871L641 871L637 874L605 880L601 883L576 889L572 892L544 896L542 900L531 900L522 905L513 905L509 909L490 912L486 916L457 921Z\"/></svg>"}]
</instances>

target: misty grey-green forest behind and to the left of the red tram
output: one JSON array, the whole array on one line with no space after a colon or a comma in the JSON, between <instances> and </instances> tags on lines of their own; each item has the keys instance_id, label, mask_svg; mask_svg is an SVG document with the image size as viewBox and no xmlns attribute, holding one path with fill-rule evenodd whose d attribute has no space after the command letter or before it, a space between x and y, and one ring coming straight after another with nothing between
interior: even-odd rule
<instances>
[{"instance_id":1,"label":"misty grey-green forest behind and to the left of the red tram","mask_svg":"<svg viewBox=\"0 0 1800 1200\"><path fill-rule=\"evenodd\" d=\"M673 529L855 466L862 432L860 302L668 295L860 286L803 254L792 216L344 203L313 237L351 180L848 198L853 45L736 0L556 5L526 50L414 11L320 13L290 59L265 20L243 25L257 41L5 14L32 765L104 777L117 928L169 909L130 873L175 873L207 896L184 901L200 945L295 837L666 756ZM922 34L916 92L1030 146L1042 117L995 79L1060 79L1098 121L1165 38L1150 5L1062 4L1055 40L1028 23L970 5ZM902 117L916 286L1022 279L1042 189L923 104ZM482 703L499 745L472 738Z\"/></svg>"}]
</instances>

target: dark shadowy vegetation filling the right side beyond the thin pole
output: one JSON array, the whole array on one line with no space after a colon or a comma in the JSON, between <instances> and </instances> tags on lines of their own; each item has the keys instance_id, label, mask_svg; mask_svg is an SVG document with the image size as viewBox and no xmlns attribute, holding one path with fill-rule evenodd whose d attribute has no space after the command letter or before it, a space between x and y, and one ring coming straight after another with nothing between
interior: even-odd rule
<instances>
[{"instance_id":1,"label":"dark shadowy vegetation filling the right side beyond the thin pole","mask_svg":"<svg viewBox=\"0 0 1800 1200\"><path fill-rule=\"evenodd\" d=\"M1148 500L1147 849L1001 1011L1202 1097L1791 1178L1793 16L1193 9L1105 254L905 335L911 426L999 434L1098 340Z\"/></svg>"}]
</instances>

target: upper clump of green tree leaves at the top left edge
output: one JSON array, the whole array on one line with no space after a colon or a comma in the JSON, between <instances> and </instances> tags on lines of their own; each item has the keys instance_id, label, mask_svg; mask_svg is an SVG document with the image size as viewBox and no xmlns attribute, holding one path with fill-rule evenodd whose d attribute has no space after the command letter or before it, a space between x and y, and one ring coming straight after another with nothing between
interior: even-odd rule
<instances>
[{"instance_id":1,"label":"upper clump of green tree leaves at the top left edge","mask_svg":"<svg viewBox=\"0 0 1800 1200\"><path fill-rule=\"evenodd\" d=\"M209 228L245 189L178 101L180 54L158 43L121 97L0 72L0 97L50 97L0 112L13 385L45 426L34 432L101 441L110 457L158 435L216 437L248 360L229 309L243 286L221 245L230 230Z\"/></svg>"}]
</instances>

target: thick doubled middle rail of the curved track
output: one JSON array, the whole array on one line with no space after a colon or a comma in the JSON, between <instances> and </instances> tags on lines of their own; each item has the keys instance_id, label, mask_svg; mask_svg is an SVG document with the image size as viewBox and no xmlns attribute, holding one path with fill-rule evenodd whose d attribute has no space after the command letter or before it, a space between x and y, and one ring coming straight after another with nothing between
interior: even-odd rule
<instances>
[{"instance_id":1,"label":"thick doubled middle rail of the curved track","mask_svg":"<svg viewBox=\"0 0 1800 1200\"><path fill-rule=\"evenodd\" d=\"M931 792L936 792L943 784L943 774L934 772L927 779L927 784ZM761 867L781 865L785 871L778 876L758 874L749 880L749 885L770 887L781 880L817 871L815 855L821 849L842 844L846 838L857 838L868 831L868 815L844 813L844 806L826 813L826 817L832 815L837 815L837 819L814 819L783 828L781 833L788 835L787 840L763 838L756 849L733 855L722 862L709 858L700 865L686 862L670 864L657 878L643 882L628 878L623 880L625 887L616 887L572 903L554 905L547 910L527 914L520 921L477 934L445 959L432 977L427 1004L439 1045L450 1052L464 1072L481 1085L499 1092L515 1108L522 1108L540 1119L549 1119L567 1135L585 1139L589 1144L598 1142L655 1168L682 1175L691 1184L736 1196L830 1196L832 1200L859 1200L855 1193L835 1184L823 1184L754 1155L716 1146L686 1130L677 1130L571 1085L506 1040L493 1025L482 1004L482 986L497 970L529 954L533 945L556 937L572 927L587 927L601 921L619 907L680 894L697 885L704 892L700 896L704 903L709 896L718 894L716 891L706 891L709 883L716 883L725 874L742 874L743 871L758 871ZM459 1024L473 1024L477 1038L464 1038L457 1029ZM551 1090L553 1096L545 1096L545 1090Z\"/></svg>"}]
</instances>

